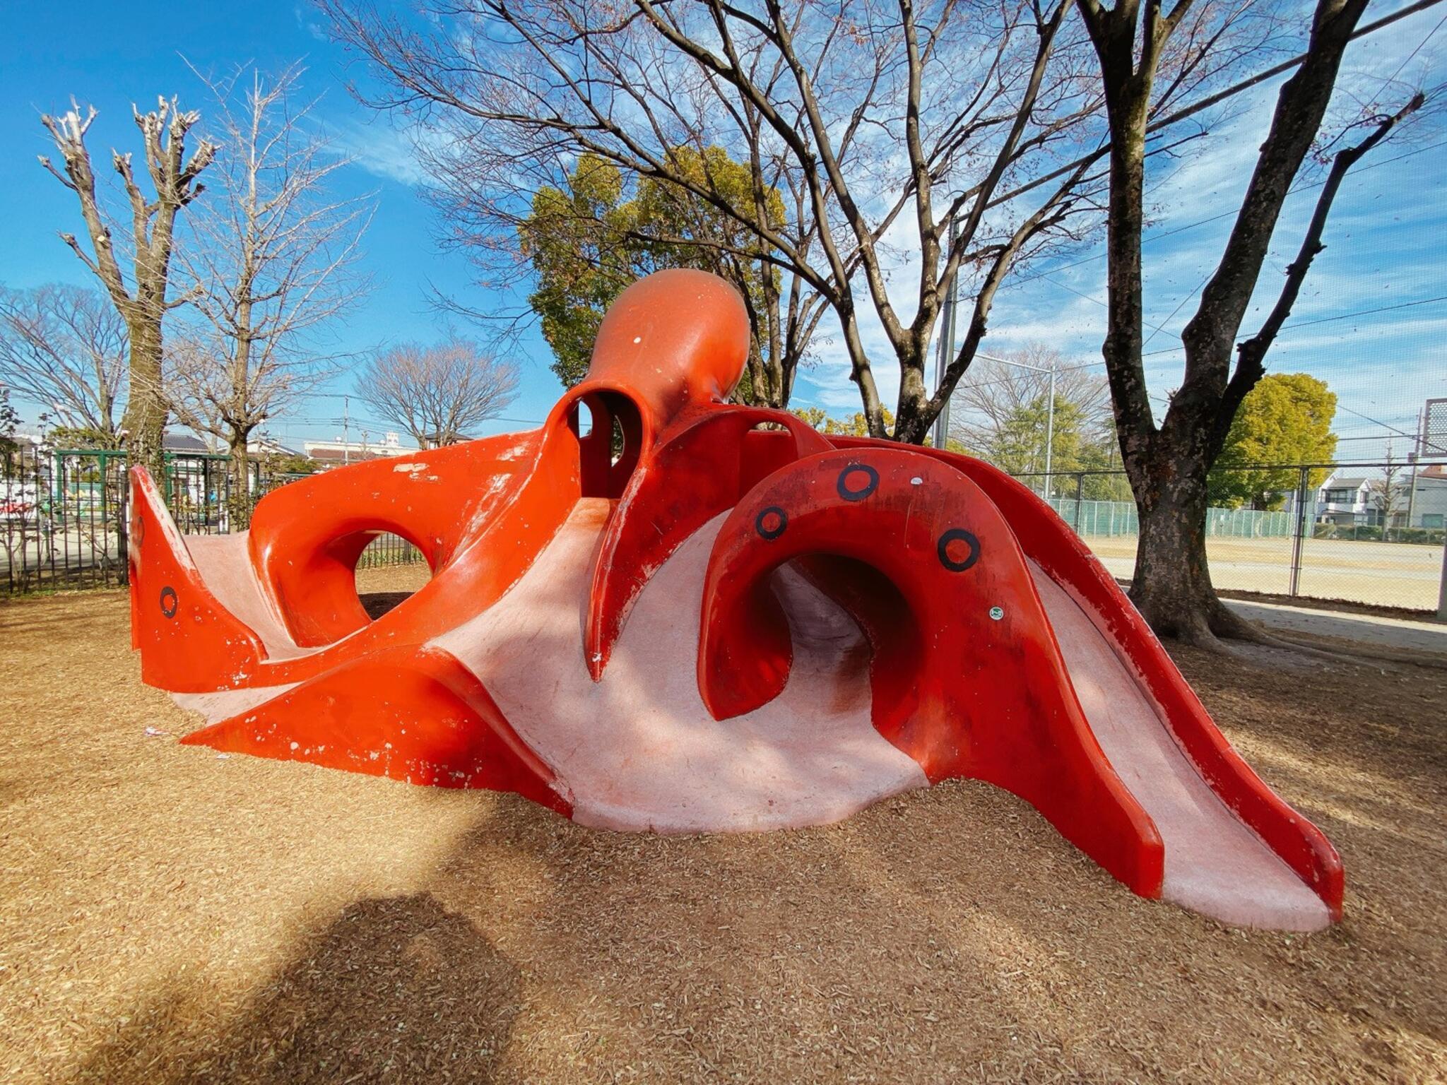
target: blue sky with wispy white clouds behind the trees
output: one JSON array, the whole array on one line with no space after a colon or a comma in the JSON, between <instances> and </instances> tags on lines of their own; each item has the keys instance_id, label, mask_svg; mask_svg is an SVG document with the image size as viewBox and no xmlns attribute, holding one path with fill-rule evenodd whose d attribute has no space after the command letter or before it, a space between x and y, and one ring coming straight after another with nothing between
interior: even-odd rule
<instances>
[{"instance_id":1,"label":"blue sky with wispy white clouds behind the trees","mask_svg":"<svg viewBox=\"0 0 1447 1085\"><path fill-rule=\"evenodd\" d=\"M1391 10L1382 4L1373 14ZM376 281L368 304L337 330L341 346L362 352L385 341L434 339L444 320L428 305L428 284L470 305L489 298L469 285L469 268L434 242L431 210L420 198L410 145L385 120L357 106L344 80L360 77L347 56L294 1L200 3L187 17L174 4L68 4L64 29L56 9L12 4L0 39L0 284L33 286L65 281L88 285L88 272L58 240L56 230L78 227L71 192L36 163L49 150L42 111L64 109L74 94L100 110L91 129L93 152L135 145L130 103L150 103L178 93L182 104L204 104L204 88L187 67L224 71L255 61L276 69L298 58L308 67L305 88L323 94L326 127L356 158L341 171L341 194L375 192L378 214L366 239L366 268ZM1372 17L1372 16L1369 16ZM1447 29L1424 38L1443 19L1440 9L1418 13L1391 30L1359 42L1349 55L1337 114L1380 95L1395 104L1406 84L1443 80ZM77 32L75 27L84 27ZM1415 55L1414 55L1415 49ZM182 59L185 58L185 59ZM1392 82L1396 77L1396 82ZM1230 116L1213 123L1213 139L1191 145L1189 155L1162 169L1153 190L1153 239L1147 240L1147 321L1159 327L1147 350L1152 391L1165 395L1179 373L1176 334L1194 311L1191 298L1220 253L1226 216L1239 200L1250 159L1265 132L1276 87L1262 87ZM101 159L104 161L104 159ZM1308 178L1310 181L1310 178ZM1288 204L1279 252L1263 275L1257 310L1269 305L1315 190ZM1411 430L1421 401L1447 395L1447 130L1425 117L1401 139L1383 145L1349 176L1328 226L1327 250L1312 268L1291 326L1269 359L1278 372L1307 370L1338 392L1341 454L1379 457L1392 430ZM903 269L901 269L903 271ZM896 275L907 284L912 276ZM862 299L861 294L861 299ZM1386 311L1363 312L1367 310ZM985 350L1006 352L1045 341L1078 363L1097 362L1104 330L1104 259L1097 244L1053 256L1007 286L996 305ZM1363 315L1347 317L1344 314ZM1247 320L1247 331L1252 320ZM877 327L865 326L867 344L883 346ZM508 420L491 430L524 428L557 398L547 369L548 352L537 334L519 343L522 391ZM802 373L797 405L832 414L858 409L854 385L836 349ZM897 388L887 350L875 350L877 378L887 401ZM339 378L333 395L308 399L295 417L272 422L272 435L297 443L340 433L341 399L350 380ZM22 405L23 407L23 405ZM376 435L383 425L359 420L353 401L353 437ZM33 417L33 415L30 415ZM1399 451L1405 441L1395 438Z\"/></svg>"}]
</instances>

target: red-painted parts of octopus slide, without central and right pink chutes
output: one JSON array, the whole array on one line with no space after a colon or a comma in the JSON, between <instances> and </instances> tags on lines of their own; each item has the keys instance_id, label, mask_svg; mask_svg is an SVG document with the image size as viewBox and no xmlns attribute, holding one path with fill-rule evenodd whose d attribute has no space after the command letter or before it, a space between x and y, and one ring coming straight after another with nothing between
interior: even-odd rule
<instances>
[{"instance_id":1,"label":"red-painted parts of octopus slide, without central and right pink chutes","mask_svg":"<svg viewBox=\"0 0 1447 1085\"><path fill-rule=\"evenodd\" d=\"M580 499L603 498L577 652L537 661L599 680L653 573L722 516L697 654L715 718L757 709L789 678L789 622L768 584L792 561L868 635L874 726L930 781L965 775L1014 791L1136 893L1158 895L1162 836L1101 752L1029 557L1127 661L1201 778L1340 916L1331 845L1230 749L1043 502L968 457L826 438L789 414L726 404L748 341L742 301L721 279L650 276L609 311L587 379L540 430L292 483L263 498L250 534L232 542L188 544L135 470L132 638L143 678L182 693L258 690L252 707L191 744L512 790L567 814L567 781L431 641L502 597ZM411 540L433 577L369 621L353 566L382 531Z\"/></svg>"}]
</instances>

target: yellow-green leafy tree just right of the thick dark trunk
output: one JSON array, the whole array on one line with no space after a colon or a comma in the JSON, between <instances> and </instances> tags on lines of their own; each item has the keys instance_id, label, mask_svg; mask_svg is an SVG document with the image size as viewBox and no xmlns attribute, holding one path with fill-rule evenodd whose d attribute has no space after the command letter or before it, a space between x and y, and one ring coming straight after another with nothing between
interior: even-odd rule
<instances>
[{"instance_id":1,"label":"yellow-green leafy tree just right of the thick dark trunk","mask_svg":"<svg viewBox=\"0 0 1447 1085\"><path fill-rule=\"evenodd\" d=\"M1297 489L1301 473L1282 464L1325 463L1336 456L1331 422L1337 396L1324 380L1308 373L1269 373L1242 401L1226 434L1226 444L1207 482L1208 502L1226 508L1249 505L1278 509ZM1247 464L1278 464L1249 469ZM1308 485L1318 488L1330 469L1312 470Z\"/></svg>"}]
</instances>

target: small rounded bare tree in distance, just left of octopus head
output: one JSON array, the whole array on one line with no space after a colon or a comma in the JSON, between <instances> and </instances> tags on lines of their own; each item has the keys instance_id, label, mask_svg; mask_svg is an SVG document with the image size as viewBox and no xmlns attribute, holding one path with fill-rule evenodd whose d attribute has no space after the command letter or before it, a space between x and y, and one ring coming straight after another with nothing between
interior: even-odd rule
<instances>
[{"instance_id":1,"label":"small rounded bare tree in distance, just left of octopus head","mask_svg":"<svg viewBox=\"0 0 1447 1085\"><path fill-rule=\"evenodd\" d=\"M402 343L368 359L356 396L420 447L437 448L467 440L472 427L496 418L517 395L518 379L515 363L469 340Z\"/></svg>"}]
</instances>

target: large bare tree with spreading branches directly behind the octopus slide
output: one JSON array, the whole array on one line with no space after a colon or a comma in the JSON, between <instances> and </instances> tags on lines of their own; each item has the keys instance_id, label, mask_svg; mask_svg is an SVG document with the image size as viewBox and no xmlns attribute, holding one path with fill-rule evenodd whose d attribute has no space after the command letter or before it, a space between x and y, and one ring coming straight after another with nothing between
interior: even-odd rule
<instances>
[{"instance_id":1,"label":"large bare tree with spreading branches directly behind the octopus slide","mask_svg":"<svg viewBox=\"0 0 1447 1085\"><path fill-rule=\"evenodd\" d=\"M667 181L750 237L748 246L728 237L712 244L780 268L786 326L796 299L823 298L875 437L890 434L864 307L900 369L893 435L922 441L972 362L1004 278L1074 237L1077 216L1084 226L1097 210L1103 98L1087 78L1084 32L1066 19L1072 0L787 9L464 0L427 4L428 17L415 23L365 0L321 1L336 33L391 87L375 104L410 111L437 133L433 172L464 166L454 207L472 217L453 220L459 243L501 244L469 227L580 152ZM1234 67L1249 7L1201 7L1191 33L1168 51L1166 98ZM710 145L760 163L763 182L786 194L784 223L728 200L670 156L671 148ZM956 272L974 307L930 393L929 343Z\"/></svg>"}]
</instances>

